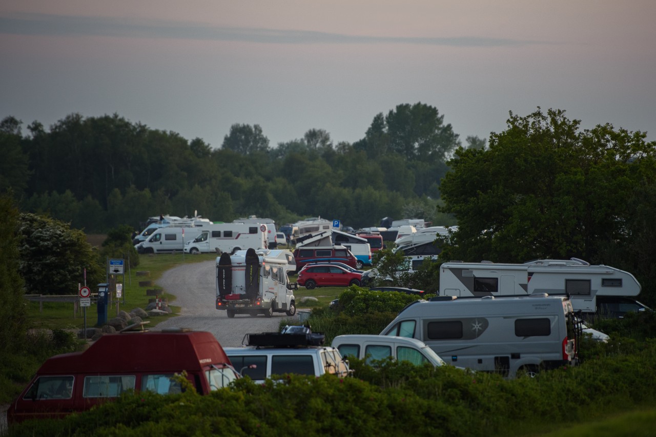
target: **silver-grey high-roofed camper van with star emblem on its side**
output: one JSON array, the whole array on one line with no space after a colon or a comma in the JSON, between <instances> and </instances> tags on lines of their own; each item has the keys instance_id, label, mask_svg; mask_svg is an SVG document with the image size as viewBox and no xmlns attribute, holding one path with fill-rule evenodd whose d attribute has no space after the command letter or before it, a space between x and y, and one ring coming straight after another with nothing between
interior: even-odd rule
<instances>
[{"instance_id":1,"label":"silver-grey high-roofed camper van with star emblem on its side","mask_svg":"<svg viewBox=\"0 0 656 437\"><path fill-rule=\"evenodd\" d=\"M418 339L445 362L506 377L577 364L581 326L562 296L416 301L381 335Z\"/></svg>"}]
</instances>

